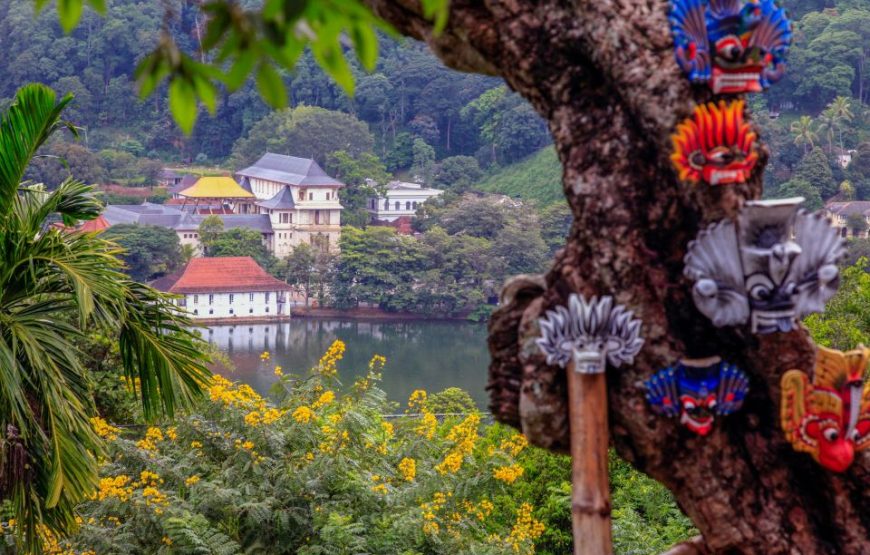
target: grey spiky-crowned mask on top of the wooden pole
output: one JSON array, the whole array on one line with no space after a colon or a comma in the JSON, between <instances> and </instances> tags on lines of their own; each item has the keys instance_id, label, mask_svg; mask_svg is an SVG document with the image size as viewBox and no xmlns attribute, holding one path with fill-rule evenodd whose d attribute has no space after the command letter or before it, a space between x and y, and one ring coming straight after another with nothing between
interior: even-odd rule
<instances>
[{"instance_id":1,"label":"grey spiky-crowned mask on top of the wooden pole","mask_svg":"<svg viewBox=\"0 0 870 555\"><path fill-rule=\"evenodd\" d=\"M548 364L565 367L573 359L574 371L600 374L605 365L631 364L643 346L641 321L624 306L613 306L610 296L591 301L572 294L568 307L548 310L540 320L541 337L536 342Z\"/></svg>"}]
</instances>

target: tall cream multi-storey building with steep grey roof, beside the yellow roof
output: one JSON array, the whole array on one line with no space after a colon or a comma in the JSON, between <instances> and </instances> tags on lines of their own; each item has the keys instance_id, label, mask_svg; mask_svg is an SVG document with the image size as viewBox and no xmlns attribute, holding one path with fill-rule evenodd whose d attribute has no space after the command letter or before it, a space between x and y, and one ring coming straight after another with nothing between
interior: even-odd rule
<instances>
[{"instance_id":1,"label":"tall cream multi-storey building with steep grey roof, beside the yellow roof","mask_svg":"<svg viewBox=\"0 0 870 555\"><path fill-rule=\"evenodd\" d=\"M344 209L338 190L344 184L317 162L270 152L236 176L256 197L255 211L271 219L275 256L287 256L300 243L325 251L338 248Z\"/></svg>"}]
</instances>

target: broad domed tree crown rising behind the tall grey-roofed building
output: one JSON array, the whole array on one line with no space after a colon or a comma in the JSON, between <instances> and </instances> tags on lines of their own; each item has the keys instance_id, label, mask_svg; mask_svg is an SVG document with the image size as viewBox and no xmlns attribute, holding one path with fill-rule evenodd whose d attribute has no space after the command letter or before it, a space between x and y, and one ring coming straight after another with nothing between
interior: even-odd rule
<instances>
[{"instance_id":1,"label":"broad domed tree crown rising behind the tall grey-roofed building","mask_svg":"<svg viewBox=\"0 0 870 555\"><path fill-rule=\"evenodd\" d=\"M351 157L370 152L374 138L354 116L314 106L272 112L233 146L236 167L254 163L265 152L314 158L325 164L338 151Z\"/></svg>"}]
</instances>

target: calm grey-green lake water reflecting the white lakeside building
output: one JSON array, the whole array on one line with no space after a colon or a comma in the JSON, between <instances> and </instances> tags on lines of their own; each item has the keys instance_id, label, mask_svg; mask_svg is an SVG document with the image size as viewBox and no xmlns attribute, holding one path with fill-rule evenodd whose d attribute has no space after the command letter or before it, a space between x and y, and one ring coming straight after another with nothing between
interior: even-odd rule
<instances>
[{"instance_id":1,"label":"calm grey-green lake water reflecting the white lakeside building","mask_svg":"<svg viewBox=\"0 0 870 555\"><path fill-rule=\"evenodd\" d=\"M282 324L211 326L203 336L225 352L235 371L217 371L244 381L265 394L285 374L301 374L314 366L336 339L347 345L338 364L342 382L364 375L372 355L387 357L381 387L393 401L404 402L415 389L433 393L460 387L486 406L486 326L470 322L365 322L295 319ZM261 361L269 351L271 360Z\"/></svg>"}]
</instances>

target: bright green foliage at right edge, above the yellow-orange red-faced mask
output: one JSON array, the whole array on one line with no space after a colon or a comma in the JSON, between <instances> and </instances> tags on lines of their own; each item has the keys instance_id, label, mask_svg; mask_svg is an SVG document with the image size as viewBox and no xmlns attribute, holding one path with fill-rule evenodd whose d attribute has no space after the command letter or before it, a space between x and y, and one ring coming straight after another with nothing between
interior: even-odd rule
<instances>
[{"instance_id":1,"label":"bright green foliage at right edge, above the yellow-orange red-faced mask","mask_svg":"<svg viewBox=\"0 0 870 555\"><path fill-rule=\"evenodd\" d=\"M841 270L840 289L825 312L804 320L813 340L834 349L870 345L870 273L867 258Z\"/></svg>"}]
</instances>

